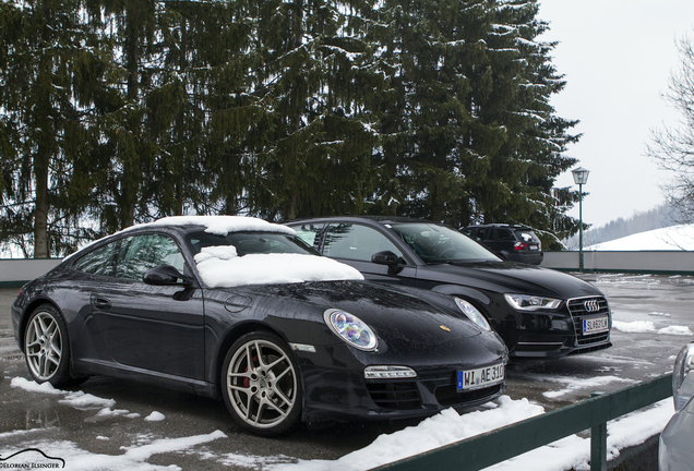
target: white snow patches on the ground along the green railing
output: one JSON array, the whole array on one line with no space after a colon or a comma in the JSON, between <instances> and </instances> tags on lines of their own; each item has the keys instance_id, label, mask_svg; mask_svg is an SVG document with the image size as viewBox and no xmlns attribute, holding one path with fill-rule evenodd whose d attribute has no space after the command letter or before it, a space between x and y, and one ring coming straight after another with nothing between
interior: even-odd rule
<instances>
[{"instance_id":1,"label":"white snow patches on the ground along the green railing","mask_svg":"<svg viewBox=\"0 0 694 471\"><path fill-rule=\"evenodd\" d=\"M166 421L164 414L153 411L142 419L137 413L117 408L112 399L103 399L82 391L63 391L49 384L37 385L34 382L15 377L11 381L13 388L31 392L41 392L62 397L60 403L80 410L94 411L94 419L118 415L132 420L148 422ZM571 387L571 385L569 385ZM585 385L584 385L585 386ZM502 396L476 412L459 415L447 409L410 426L392 434L379 436L366 448L352 451L338 460L296 460L286 456L256 457L240 454L211 455L198 449L199 446L213 440L228 439L222 431L212 431L204 435L178 438L152 438L143 435L136 444L121 447L119 455L91 452L81 449L75 443L64 439L32 439L32 431L0 433L0 443L21 436L25 446L40 449L47 456L60 457L67 462L69 470L177 470L177 466L158 466L148 460L154 455L164 452L201 454L205 460L215 460L222 464L263 471L360 471L407 458L431 450L464 438L468 438L511 423L519 422L545 412L539 404L527 399L513 400ZM619 456L624 447L638 445L648 437L660 433L673 413L672 400L660 401L653 407L608 423L608 459ZM109 440L108 436L96 437ZM563 471L567 469L588 470L590 438L571 435L548 446L535 449L525 455L489 468L494 471ZM15 449L4 449L0 445L0 457L8 457ZM26 462L26 461L24 461Z\"/></svg>"}]
</instances>

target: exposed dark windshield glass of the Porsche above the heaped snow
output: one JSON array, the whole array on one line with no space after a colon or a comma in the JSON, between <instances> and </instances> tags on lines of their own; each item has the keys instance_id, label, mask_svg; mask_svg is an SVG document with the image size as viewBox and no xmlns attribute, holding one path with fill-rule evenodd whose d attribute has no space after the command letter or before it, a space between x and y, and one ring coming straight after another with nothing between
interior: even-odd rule
<instances>
[{"instance_id":1,"label":"exposed dark windshield glass of the Porsche above the heaped snow","mask_svg":"<svg viewBox=\"0 0 694 471\"><path fill-rule=\"evenodd\" d=\"M200 231L188 234L187 239L193 255L203 247L225 245L236 247L238 256L277 253L320 255L301 239L277 232L229 232L227 235L216 235Z\"/></svg>"}]
</instances>

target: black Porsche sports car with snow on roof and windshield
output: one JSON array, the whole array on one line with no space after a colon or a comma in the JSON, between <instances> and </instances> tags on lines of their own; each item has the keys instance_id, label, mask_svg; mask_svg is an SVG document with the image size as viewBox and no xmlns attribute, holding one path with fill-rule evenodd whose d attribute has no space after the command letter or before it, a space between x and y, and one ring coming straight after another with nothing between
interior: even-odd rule
<instances>
[{"instance_id":1,"label":"black Porsche sports car with snow on roof and windshield","mask_svg":"<svg viewBox=\"0 0 694 471\"><path fill-rule=\"evenodd\" d=\"M261 435L505 389L507 350L472 304L364 281L254 218L171 217L101 239L25 285L12 324L38 383L101 374L222 397Z\"/></svg>"}]
</instances>

